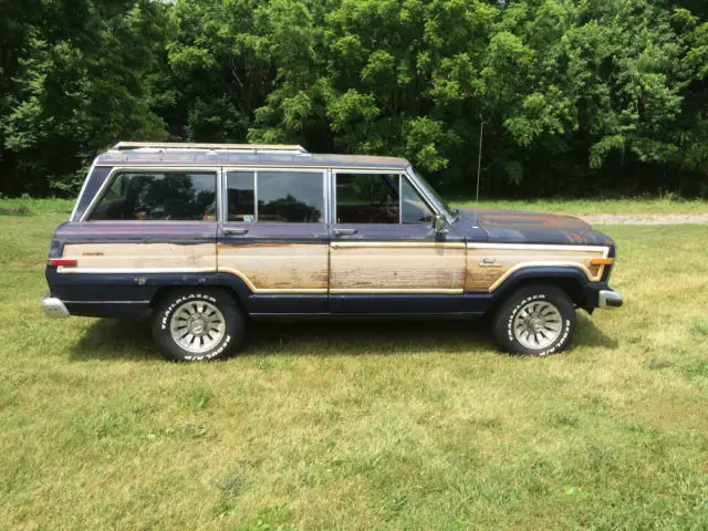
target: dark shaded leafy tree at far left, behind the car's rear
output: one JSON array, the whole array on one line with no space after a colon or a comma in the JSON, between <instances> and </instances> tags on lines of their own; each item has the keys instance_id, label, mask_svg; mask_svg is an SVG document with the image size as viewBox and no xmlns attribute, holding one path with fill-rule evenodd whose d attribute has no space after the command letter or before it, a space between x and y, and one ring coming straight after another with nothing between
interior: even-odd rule
<instances>
[{"instance_id":1,"label":"dark shaded leafy tree at far left, behind the car's rear","mask_svg":"<svg viewBox=\"0 0 708 531\"><path fill-rule=\"evenodd\" d=\"M54 0L6 19L22 31L7 51L3 190L75 189L76 171L116 138L165 137L150 75L166 44L166 10L149 0Z\"/></svg>"}]
</instances>

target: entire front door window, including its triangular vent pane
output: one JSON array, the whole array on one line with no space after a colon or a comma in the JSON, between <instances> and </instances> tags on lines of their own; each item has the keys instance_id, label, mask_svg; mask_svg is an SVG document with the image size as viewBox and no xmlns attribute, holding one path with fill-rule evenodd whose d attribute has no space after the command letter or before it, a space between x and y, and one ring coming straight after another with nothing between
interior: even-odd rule
<instances>
[{"instance_id":1,"label":"entire front door window, including its triangular vent pane","mask_svg":"<svg viewBox=\"0 0 708 531\"><path fill-rule=\"evenodd\" d=\"M398 174L337 174L337 223L429 223L434 214Z\"/></svg>"}]
</instances>

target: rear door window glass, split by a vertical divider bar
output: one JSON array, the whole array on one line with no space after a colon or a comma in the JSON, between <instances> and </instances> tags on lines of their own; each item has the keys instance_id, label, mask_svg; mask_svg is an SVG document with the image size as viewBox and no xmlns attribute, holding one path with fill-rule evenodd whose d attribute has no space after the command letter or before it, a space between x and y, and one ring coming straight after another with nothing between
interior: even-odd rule
<instances>
[{"instance_id":1,"label":"rear door window glass, split by a vertical divider bar","mask_svg":"<svg viewBox=\"0 0 708 531\"><path fill-rule=\"evenodd\" d=\"M229 171L229 221L324 222L323 174L317 171Z\"/></svg>"}]
</instances>

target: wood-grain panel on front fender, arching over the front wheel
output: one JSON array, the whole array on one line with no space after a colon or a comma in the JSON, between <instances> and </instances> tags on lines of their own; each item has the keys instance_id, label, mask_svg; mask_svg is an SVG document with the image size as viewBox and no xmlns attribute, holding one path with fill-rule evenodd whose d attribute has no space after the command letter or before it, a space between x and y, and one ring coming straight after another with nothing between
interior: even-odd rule
<instances>
[{"instance_id":1,"label":"wood-grain panel on front fender, arching over the front wheel","mask_svg":"<svg viewBox=\"0 0 708 531\"><path fill-rule=\"evenodd\" d=\"M604 266L591 266L593 258L605 258L607 248L563 249L560 247L542 249L541 246L503 249L467 249L467 280L465 291L493 291L514 271L528 267L571 267L577 268L591 281L598 281ZM490 263L491 262L491 263Z\"/></svg>"}]
</instances>

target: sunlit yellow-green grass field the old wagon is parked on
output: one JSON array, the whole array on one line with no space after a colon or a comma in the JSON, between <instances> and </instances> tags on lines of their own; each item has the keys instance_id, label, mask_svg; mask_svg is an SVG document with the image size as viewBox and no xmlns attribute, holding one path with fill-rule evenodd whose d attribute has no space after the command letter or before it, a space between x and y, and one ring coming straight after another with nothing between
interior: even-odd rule
<instances>
[{"instance_id":1,"label":"sunlit yellow-green grass field the old wagon is parked on","mask_svg":"<svg viewBox=\"0 0 708 531\"><path fill-rule=\"evenodd\" d=\"M568 354L269 324L186 365L145 323L43 319L70 208L0 216L0 528L708 529L708 228L606 227L626 304Z\"/></svg>"}]
</instances>

